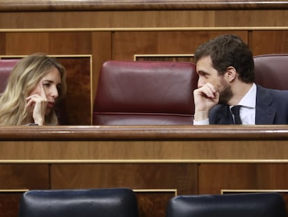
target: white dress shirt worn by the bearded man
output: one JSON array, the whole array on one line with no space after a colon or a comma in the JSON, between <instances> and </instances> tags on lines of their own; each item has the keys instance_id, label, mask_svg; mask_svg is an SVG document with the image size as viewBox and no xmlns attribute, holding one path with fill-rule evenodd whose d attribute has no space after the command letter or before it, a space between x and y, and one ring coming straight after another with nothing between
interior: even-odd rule
<instances>
[{"instance_id":1,"label":"white dress shirt worn by the bearded man","mask_svg":"<svg viewBox=\"0 0 288 217\"><path fill-rule=\"evenodd\" d=\"M243 125L255 125L255 113L256 113L256 92L257 86L253 83L250 90L246 93L246 95L240 100L238 105L241 105L240 108L240 118ZM231 112L230 106L230 112ZM232 114L232 113L231 113ZM234 115L232 114L234 119ZM193 125L208 125L209 119L205 119L202 121L193 121Z\"/></svg>"}]
</instances>

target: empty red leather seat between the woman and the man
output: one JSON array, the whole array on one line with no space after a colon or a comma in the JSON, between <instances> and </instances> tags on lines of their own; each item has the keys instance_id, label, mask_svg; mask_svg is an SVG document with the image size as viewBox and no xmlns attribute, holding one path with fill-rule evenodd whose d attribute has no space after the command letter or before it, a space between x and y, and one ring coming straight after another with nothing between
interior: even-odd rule
<instances>
[{"instance_id":1,"label":"empty red leather seat between the woman and the man","mask_svg":"<svg viewBox=\"0 0 288 217\"><path fill-rule=\"evenodd\" d=\"M93 107L94 125L192 125L195 64L106 61Z\"/></svg>"}]
</instances>

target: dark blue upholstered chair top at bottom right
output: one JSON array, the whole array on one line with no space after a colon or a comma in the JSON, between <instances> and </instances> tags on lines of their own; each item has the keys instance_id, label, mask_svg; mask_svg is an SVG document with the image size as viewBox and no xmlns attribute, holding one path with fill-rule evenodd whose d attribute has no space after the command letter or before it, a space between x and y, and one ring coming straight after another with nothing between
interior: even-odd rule
<instances>
[{"instance_id":1,"label":"dark blue upholstered chair top at bottom right","mask_svg":"<svg viewBox=\"0 0 288 217\"><path fill-rule=\"evenodd\" d=\"M168 202L166 217L285 217L278 193L179 195Z\"/></svg>"}]
</instances>

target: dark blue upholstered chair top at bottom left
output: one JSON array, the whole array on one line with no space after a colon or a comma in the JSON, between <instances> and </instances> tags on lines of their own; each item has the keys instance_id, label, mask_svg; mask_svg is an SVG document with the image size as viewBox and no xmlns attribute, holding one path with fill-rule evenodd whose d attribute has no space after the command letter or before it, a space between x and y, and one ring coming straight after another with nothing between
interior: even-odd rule
<instances>
[{"instance_id":1,"label":"dark blue upholstered chair top at bottom left","mask_svg":"<svg viewBox=\"0 0 288 217\"><path fill-rule=\"evenodd\" d=\"M19 217L138 217L136 195L128 188L29 190Z\"/></svg>"}]
</instances>

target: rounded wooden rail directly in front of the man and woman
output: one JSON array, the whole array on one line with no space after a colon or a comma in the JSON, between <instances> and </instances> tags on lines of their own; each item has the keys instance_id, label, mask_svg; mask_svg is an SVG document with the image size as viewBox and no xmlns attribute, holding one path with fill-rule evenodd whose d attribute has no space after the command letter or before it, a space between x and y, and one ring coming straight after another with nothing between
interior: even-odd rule
<instances>
[{"instance_id":1,"label":"rounded wooden rail directly in front of the man and woman","mask_svg":"<svg viewBox=\"0 0 288 217\"><path fill-rule=\"evenodd\" d=\"M287 125L1 126L0 141L287 140Z\"/></svg>"}]
</instances>

